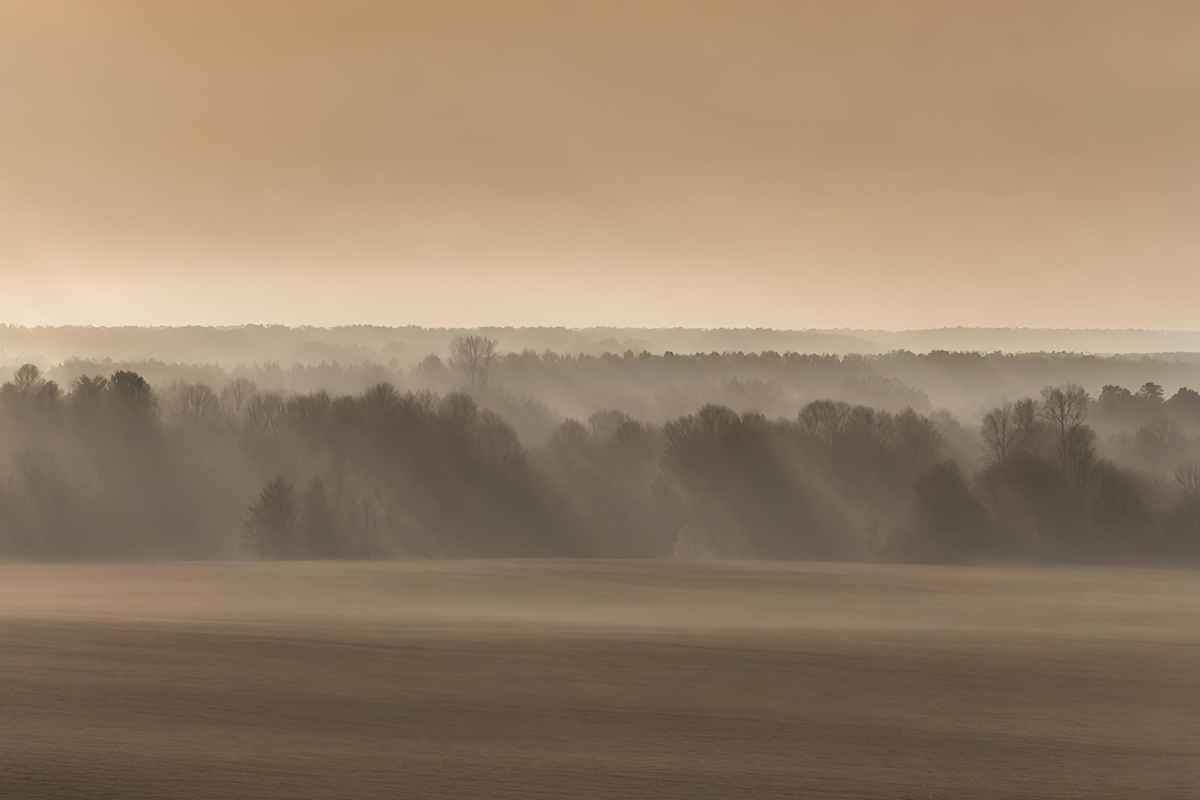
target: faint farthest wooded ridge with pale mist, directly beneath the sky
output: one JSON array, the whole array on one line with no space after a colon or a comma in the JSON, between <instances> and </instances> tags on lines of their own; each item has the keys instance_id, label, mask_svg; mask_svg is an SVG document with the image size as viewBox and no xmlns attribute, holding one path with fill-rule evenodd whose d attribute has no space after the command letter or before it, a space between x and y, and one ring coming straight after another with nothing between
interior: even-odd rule
<instances>
[{"instance_id":1,"label":"faint farthest wooded ridge with pale mist, directly beneath the sky","mask_svg":"<svg viewBox=\"0 0 1200 800\"><path fill-rule=\"evenodd\" d=\"M480 332L505 351L602 353L816 353L880 354L894 350L982 353L1164 354L1200 353L1200 331L942 327L911 331L766 327L332 327L238 325L222 327L23 327L0 324L0 365L29 359L157 359L238 363L252 361L373 359L413 363L444 354L450 339Z\"/></svg>"}]
</instances>

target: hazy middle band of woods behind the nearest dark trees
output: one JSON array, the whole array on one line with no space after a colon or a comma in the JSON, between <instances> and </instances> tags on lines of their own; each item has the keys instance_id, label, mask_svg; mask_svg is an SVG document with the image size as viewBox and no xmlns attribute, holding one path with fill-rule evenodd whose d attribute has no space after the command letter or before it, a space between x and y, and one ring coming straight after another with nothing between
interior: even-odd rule
<instances>
[{"instance_id":1,"label":"hazy middle band of woods behind the nearest dark trees","mask_svg":"<svg viewBox=\"0 0 1200 800\"><path fill-rule=\"evenodd\" d=\"M82 375L136 372L155 386L175 381L221 386L246 378L264 391L283 393L326 390L359 393L378 383L401 391L454 391L467 384L450 367L455 342L420 353L366 354L330 349L312 342L292 359L229 361L154 361L130 359L79 359L44 363L47 377L62 386ZM1160 384L1172 421L1195 428L1186 414L1175 414L1175 395L1183 386L1200 386L1200 355L1096 356L1033 353L907 353L878 355L823 355L793 351L710 351L652 354L640 349L614 349L602 354L512 349L496 342L488 368L488 389L515 398L535 398L546 411L524 409L518 421L510 409L499 409L527 440L542 439L560 419L586 419L594 411L620 409L647 422L662 423L695 411L700 404L718 403L737 411L756 410L768 416L788 416L814 399L841 399L900 411L946 409L962 419L977 419L1006 397L1036 396L1050 384L1075 383L1099 398L1104 385L1139 387ZM620 342L612 342L614 348ZM0 383L12 378L19 363L0 366ZM514 403L509 403L512 405ZM516 409L511 409L515 411ZM1182 408L1180 409L1183 410ZM1097 414L1096 427L1104 433L1109 417ZM1129 420L1114 420L1128 426Z\"/></svg>"}]
</instances>

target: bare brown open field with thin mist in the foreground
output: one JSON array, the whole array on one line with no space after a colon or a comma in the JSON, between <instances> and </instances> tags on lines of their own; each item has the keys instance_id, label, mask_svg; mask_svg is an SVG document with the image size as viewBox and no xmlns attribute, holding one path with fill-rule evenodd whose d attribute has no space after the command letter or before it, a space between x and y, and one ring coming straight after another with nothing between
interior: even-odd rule
<instances>
[{"instance_id":1,"label":"bare brown open field with thin mist in the foreground","mask_svg":"<svg viewBox=\"0 0 1200 800\"><path fill-rule=\"evenodd\" d=\"M1200 575L0 566L0 798L1200 796Z\"/></svg>"}]
</instances>

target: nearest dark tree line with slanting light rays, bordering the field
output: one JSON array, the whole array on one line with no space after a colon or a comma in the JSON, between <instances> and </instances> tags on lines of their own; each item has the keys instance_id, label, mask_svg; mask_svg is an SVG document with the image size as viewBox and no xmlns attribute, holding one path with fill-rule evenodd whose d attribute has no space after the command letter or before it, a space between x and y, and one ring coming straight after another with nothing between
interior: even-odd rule
<instances>
[{"instance_id":1,"label":"nearest dark tree line with slanting light rays, bordering the field","mask_svg":"<svg viewBox=\"0 0 1200 800\"><path fill-rule=\"evenodd\" d=\"M26 365L0 387L0 554L1200 555L1200 468L1171 421L1198 410L1190 390L1052 384L976 422L840 399L662 422L608 409L530 444L488 408L500 360L462 337L436 367L445 391L354 393L152 386L126 369L64 390Z\"/></svg>"}]
</instances>

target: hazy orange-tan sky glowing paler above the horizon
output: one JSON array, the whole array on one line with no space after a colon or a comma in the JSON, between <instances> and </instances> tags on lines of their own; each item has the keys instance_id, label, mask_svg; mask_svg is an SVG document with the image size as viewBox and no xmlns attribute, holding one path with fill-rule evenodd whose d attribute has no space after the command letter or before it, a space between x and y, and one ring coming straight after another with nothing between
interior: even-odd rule
<instances>
[{"instance_id":1,"label":"hazy orange-tan sky glowing paler above the horizon","mask_svg":"<svg viewBox=\"0 0 1200 800\"><path fill-rule=\"evenodd\" d=\"M1195 330L1196 98L1186 0L0 0L0 321Z\"/></svg>"}]
</instances>

